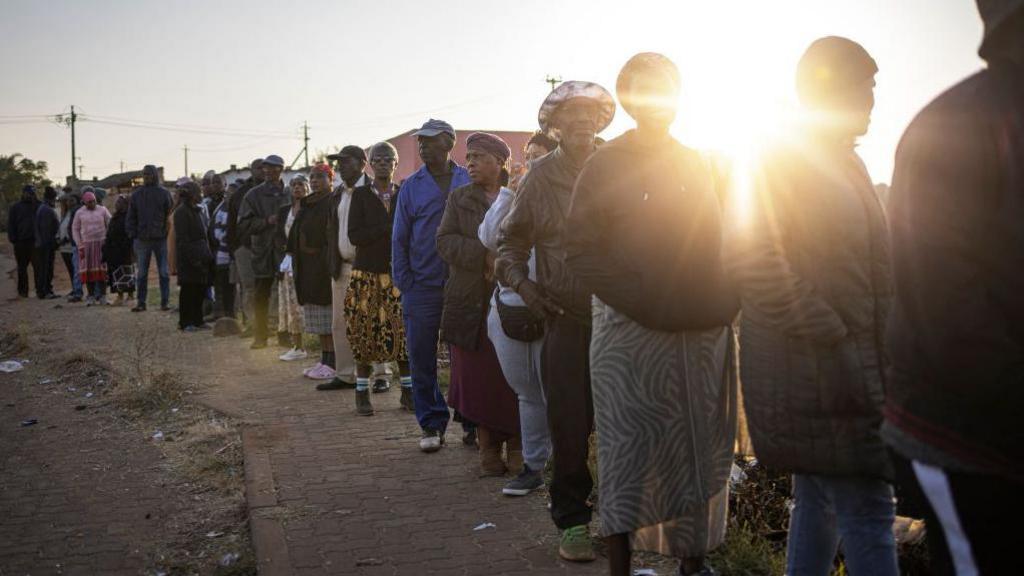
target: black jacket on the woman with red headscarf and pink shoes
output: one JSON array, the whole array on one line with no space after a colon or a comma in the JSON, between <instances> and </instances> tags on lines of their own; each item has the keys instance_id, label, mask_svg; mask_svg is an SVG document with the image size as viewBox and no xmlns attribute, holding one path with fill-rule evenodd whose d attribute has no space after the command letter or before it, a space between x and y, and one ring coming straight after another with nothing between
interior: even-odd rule
<instances>
[{"instance_id":1,"label":"black jacket on the woman with red headscarf and pink shoes","mask_svg":"<svg viewBox=\"0 0 1024 576\"><path fill-rule=\"evenodd\" d=\"M330 194L303 198L288 235L287 251L292 255L295 295L302 305L331 305L331 273L328 266L331 210Z\"/></svg>"}]
</instances>

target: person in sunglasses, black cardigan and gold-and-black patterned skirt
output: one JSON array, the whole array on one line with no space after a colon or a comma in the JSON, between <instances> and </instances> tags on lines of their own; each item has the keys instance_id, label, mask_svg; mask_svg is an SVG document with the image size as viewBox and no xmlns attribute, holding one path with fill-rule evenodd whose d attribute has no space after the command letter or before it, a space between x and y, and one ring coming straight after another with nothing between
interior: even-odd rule
<instances>
[{"instance_id":1,"label":"person in sunglasses, black cardigan and gold-and-black patterned skirt","mask_svg":"<svg viewBox=\"0 0 1024 576\"><path fill-rule=\"evenodd\" d=\"M413 378L406 351L401 298L391 280L391 229L398 205L394 169L398 151L388 142L370 149L373 181L356 187L348 211L348 241L355 246L352 280L345 293L345 329L355 358L355 410L369 416L374 364L397 362L402 409L414 411ZM374 392L387 389L374 386Z\"/></svg>"}]
</instances>

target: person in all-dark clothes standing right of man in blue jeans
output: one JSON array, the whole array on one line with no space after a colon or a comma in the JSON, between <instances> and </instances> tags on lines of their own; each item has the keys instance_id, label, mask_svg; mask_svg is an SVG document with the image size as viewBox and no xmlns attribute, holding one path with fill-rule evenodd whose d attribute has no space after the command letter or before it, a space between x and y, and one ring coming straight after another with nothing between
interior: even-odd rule
<instances>
[{"instance_id":1,"label":"person in all-dark clothes standing right of man in blue jeans","mask_svg":"<svg viewBox=\"0 0 1024 576\"><path fill-rule=\"evenodd\" d=\"M171 216L174 223L174 247L177 255L178 328L185 332L205 330L203 299L210 284L213 252L207 236L206 220L199 207L199 184L189 180L178 186L178 207Z\"/></svg>"}]
</instances>

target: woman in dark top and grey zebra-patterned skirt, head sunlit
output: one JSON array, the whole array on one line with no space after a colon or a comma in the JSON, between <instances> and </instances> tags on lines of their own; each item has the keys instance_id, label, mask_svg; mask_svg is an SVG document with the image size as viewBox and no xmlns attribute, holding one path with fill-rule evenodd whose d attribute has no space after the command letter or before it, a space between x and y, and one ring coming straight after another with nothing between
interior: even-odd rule
<instances>
[{"instance_id":1,"label":"woman in dark top and grey zebra-patterned skirt, head sunlit","mask_svg":"<svg viewBox=\"0 0 1024 576\"><path fill-rule=\"evenodd\" d=\"M631 547L680 559L680 574L712 574L705 557L725 538L737 422L722 205L706 161L669 134L676 66L637 54L615 89L637 127L580 173L566 246L594 294L601 531L613 575L631 573Z\"/></svg>"}]
</instances>

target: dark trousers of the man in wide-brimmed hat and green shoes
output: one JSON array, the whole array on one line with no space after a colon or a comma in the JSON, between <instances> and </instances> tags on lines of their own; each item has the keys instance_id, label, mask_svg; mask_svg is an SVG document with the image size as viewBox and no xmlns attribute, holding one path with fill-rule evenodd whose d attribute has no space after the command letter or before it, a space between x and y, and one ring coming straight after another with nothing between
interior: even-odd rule
<instances>
[{"instance_id":1,"label":"dark trousers of the man in wide-brimmed hat and green shoes","mask_svg":"<svg viewBox=\"0 0 1024 576\"><path fill-rule=\"evenodd\" d=\"M589 524L594 479L587 465L594 402L590 390L591 328L564 316L548 322L541 380L548 401L553 475L551 519L560 530Z\"/></svg>"}]
</instances>

